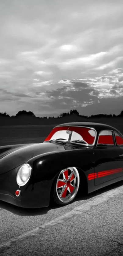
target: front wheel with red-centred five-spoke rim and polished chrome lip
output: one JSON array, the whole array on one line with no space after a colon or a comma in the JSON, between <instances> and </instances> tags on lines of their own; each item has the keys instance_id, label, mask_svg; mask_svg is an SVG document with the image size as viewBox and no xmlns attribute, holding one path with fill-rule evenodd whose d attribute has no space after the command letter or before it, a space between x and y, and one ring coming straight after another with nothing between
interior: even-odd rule
<instances>
[{"instance_id":1,"label":"front wheel with red-centred five-spoke rim and polished chrome lip","mask_svg":"<svg viewBox=\"0 0 123 256\"><path fill-rule=\"evenodd\" d=\"M62 170L55 179L52 198L57 205L71 203L79 188L80 178L76 167Z\"/></svg>"}]
</instances>

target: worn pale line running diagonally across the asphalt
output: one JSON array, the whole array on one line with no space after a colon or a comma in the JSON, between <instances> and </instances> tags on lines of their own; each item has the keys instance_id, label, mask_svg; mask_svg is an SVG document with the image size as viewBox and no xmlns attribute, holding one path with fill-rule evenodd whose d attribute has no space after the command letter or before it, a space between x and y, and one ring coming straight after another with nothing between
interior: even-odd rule
<instances>
[{"instance_id":1,"label":"worn pale line running diagonally across the asphalt","mask_svg":"<svg viewBox=\"0 0 123 256\"><path fill-rule=\"evenodd\" d=\"M17 240L23 240L25 237L38 234L38 232L40 232L42 229L49 229L58 223L64 223L69 218L73 217L74 215L81 214L82 211L89 211L92 206L103 203L103 202L109 200L111 197L114 197L118 194L123 194L123 186L120 186L119 188L114 188L109 192L104 192L103 194L101 194L99 196L95 196L93 198L87 199L87 203L85 203L85 201L84 201L84 203L82 203L78 207L75 207L70 212L63 214L62 216L55 218L52 221L48 221L35 229L24 232L22 235L12 238L8 242L1 243L0 244L0 252L4 251L4 249L6 249L6 248L10 248L12 243Z\"/></svg>"}]
</instances>

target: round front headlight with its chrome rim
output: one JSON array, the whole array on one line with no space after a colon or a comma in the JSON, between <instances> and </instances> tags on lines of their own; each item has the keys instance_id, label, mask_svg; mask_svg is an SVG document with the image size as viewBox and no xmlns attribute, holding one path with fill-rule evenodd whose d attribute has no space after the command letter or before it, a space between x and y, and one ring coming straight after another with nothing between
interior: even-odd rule
<instances>
[{"instance_id":1,"label":"round front headlight with its chrome rim","mask_svg":"<svg viewBox=\"0 0 123 256\"><path fill-rule=\"evenodd\" d=\"M22 165L17 173L16 181L19 186L24 186L30 179L31 166L28 163Z\"/></svg>"}]
</instances>

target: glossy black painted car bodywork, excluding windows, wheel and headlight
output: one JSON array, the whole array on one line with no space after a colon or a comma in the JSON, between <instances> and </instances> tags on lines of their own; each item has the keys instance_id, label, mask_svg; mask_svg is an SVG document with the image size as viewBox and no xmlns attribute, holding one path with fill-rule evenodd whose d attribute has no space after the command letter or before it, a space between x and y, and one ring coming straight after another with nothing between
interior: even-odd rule
<instances>
[{"instance_id":1,"label":"glossy black painted car bodywork, excluding windows, wheel and headlight","mask_svg":"<svg viewBox=\"0 0 123 256\"><path fill-rule=\"evenodd\" d=\"M62 126L88 126L97 131L94 146L44 142L0 147L0 199L21 207L47 207L56 175L64 168L75 166L87 183L88 193L123 179L123 174L113 174L88 180L88 175L98 171L123 167L123 146L96 146L101 130L115 130L112 126L98 123L67 123ZM61 126L61 125L59 125ZM32 167L31 178L19 188L16 174L24 163ZM80 182L80 188L82 183ZM21 190L16 197L17 189Z\"/></svg>"}]
</instances>

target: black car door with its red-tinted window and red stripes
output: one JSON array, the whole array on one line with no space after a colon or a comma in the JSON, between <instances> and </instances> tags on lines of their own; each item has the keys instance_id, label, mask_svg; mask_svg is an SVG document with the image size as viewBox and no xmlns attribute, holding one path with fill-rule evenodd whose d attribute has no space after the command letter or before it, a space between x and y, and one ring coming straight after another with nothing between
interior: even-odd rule
<instances>
[{"instance_id":1,"label":"black car door with its red-tinted window and red stripes","mask_svg":"<svg viewBox=\"0 0 123 256\"><path fill-rule=\"evenodd\" d=\"M114 131L101 131L94 148L95 186L118 177L123 178L122 154L122 147L116 144Z\"/></svg>"}]
</instances>

